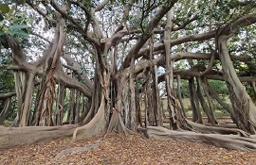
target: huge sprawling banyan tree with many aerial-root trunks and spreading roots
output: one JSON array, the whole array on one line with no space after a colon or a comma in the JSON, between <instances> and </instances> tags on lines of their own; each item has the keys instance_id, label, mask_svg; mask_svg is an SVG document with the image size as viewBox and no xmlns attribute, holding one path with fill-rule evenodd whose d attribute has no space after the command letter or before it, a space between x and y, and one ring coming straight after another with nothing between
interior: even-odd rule
<instances>
[{"instance_id":1,"label":"huge sprawling banyan tree with many aerial-root trunks and spreading roots","mask_svg":"<svg viewBox=\"0 0 256 165\"><path fill-rule=\"evenodd\" d=\"M255 2L27 0L10 6L17 9L13 17L20 11L29 22L1 15L10 23L0 31L1 42L12 53L12 64L3 69L14 74L15 91L0 99L9 106L15 97L17 108L13 127L1 127L1 146L140 131L155 139L256 149L256 107L244 86L256 92ZM25 44L31 41L33 47ZM189 82L192 121L181 101L181 79ZM209 80L225 81L231 107ZM168 129L162 127L159 83ZM218 124L211 99L229 112L235 128Z\"/></svg>"}]
</instances>

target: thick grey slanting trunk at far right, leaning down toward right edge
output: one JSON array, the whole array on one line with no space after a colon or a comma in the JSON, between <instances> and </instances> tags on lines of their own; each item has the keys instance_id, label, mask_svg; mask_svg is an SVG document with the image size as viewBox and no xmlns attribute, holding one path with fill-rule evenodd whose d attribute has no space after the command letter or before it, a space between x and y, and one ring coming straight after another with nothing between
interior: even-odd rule
<instances>
[{"instance_id":1,"label":"thick grey slanting trunk at far right, leaning down toward right edge","mask_svg":"<svg viewBox=\"0 0 256 165\"><path fill-rule=\"evenodd\" d=\"M218 46L224 78L229 89L230 102L235 114L234 123L237 124L238 128L255 134L256 107L234 70L229 57L228 40L229 36L220 36L218 38Z\"/></svg>"}]
</instances>

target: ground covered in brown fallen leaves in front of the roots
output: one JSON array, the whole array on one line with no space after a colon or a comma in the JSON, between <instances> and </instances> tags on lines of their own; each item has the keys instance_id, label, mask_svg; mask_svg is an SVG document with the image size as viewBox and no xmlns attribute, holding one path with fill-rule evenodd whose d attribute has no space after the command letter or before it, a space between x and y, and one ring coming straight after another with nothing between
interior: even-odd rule
<instances>
[{"instance_id":1,"label":"ground covered in brown fallen leaves in front of the roots","mask_svg":"<svg viewBox=\"0 0 256 165\"><path fill-rule=\"evenodd\" d=\"M83 147L101 141L98 148L56 156L65 149ZM208 144L175 140L152 140L141 135L114 134L104 140L94 138L56 140L23 147L0 149L0 164L256 164L256 152L241 152Z\"/></svg>"}]
</instances>

